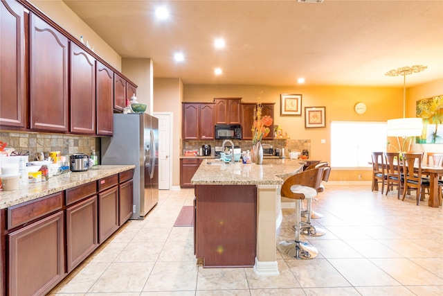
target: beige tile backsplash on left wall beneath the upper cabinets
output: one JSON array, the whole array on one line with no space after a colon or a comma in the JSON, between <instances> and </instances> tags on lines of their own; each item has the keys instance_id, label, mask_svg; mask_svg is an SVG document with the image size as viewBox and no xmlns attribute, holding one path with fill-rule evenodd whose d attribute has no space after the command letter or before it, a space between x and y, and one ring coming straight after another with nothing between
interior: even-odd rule
<instances>
[{"instance_id":1,"label":"beige tile backsplash on left wall beneath the upper cabinets","mask_svg":"<svg viewBox=\"0 0 443 296\"><path fill-rule=\"evenodd\" d=\"M45 157L49 151L60 151L61 155L84 153L91 155L96 150L100 155L100 138L72 134L44 134L41 132L0 132L0 141L8 143L10 148L17 151L29 151L29 160L33 161L35 154L43 152Z\"/></svg>"}]
</instances>

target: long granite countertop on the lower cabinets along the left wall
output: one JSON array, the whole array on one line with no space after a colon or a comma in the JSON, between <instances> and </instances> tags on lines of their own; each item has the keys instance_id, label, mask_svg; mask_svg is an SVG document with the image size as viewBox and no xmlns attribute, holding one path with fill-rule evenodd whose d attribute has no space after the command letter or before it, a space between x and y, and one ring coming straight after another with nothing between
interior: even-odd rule
<instances>
[{"instance_id":1,"label":"long granite countertop on the lower cabinets along the left wall","mask_svg":"<svg viewBox=\"0 0 443 296\"><path fill-rule=\"evenodd\" d=\"M0 191L0 209L6 209L15 204L21 204L36 198L64 191L75 186L80 186L92 181L109 177L123 171L128 171L135 168L134 165L106 165L93 166L85 172L69 172L62 173L49 178L46 182L30 183L27 185L20 185L19 189L12 191Z\"/></svg>"}]
</instances>

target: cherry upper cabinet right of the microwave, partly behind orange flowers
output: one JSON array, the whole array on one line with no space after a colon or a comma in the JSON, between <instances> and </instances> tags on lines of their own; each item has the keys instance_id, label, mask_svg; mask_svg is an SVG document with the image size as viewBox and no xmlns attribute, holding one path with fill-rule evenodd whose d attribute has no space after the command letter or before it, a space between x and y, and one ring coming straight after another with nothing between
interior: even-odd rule
<instances>
[{"instance_id":1,"label":"cherry upper cabinet right of the microwave, partly behind orange flowers","mask_svg":"<svg viewBox=\"0 0 443 296\"><path fill-rule=\"evenodd\" d=\"M257 108L256 103L242 103L242 139L243 140L251 140L252 139L252 127L253 127L253 116L254 112ZM274 104L273 103L264 103L262 104L262 116L271 116L274 118ZM266 137L263 137L264 140L272 140L273 139L273 123L269 127L271 132Z\"/></svg>"}]
</instances>

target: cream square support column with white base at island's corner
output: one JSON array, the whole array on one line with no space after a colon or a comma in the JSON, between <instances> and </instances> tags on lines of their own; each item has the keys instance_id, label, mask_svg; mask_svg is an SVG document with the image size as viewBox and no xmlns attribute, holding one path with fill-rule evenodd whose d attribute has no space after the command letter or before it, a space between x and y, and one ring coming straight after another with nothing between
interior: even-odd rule
<instances>
[{"instance_id":1,"label":"cream square support column with white base at island's corner","mask_svg":"<svg viewBox=\"0 0 443 296\"><path fill-rule=\"evenodd\" d=\"M254 272L257 275L278 275L275 256L275 201L278 185L257 185L257 256Z\"/></svg>"}]
</instances>

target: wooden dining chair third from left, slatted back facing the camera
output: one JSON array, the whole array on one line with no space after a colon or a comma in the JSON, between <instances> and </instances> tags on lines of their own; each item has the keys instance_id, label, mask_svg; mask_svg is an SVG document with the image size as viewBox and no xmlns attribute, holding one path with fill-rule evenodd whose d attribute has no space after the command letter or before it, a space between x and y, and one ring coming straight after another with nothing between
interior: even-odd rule
<instances>
[{"instance_id":1,"label":"wooden dining chair third from left, slatted back facing the camera","mask_svg":"<svg viewBox=\"0 0 443 296\"><path fill-rule=\"evenodd\" d=\"M417 205L424 195L424 189L429 188L429 179L422 176L422 152L403 153L404 190L403 198L409 189L417 190Z\"/></svg>"}]
</instances>

